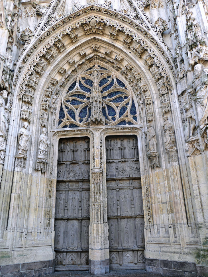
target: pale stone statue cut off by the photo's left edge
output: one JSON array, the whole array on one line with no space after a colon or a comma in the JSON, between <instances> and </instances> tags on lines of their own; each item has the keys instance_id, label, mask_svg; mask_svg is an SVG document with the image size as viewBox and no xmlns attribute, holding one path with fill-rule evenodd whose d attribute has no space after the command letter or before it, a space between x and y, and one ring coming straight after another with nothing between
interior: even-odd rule
<instances>
[{"instance_id":1,"label":"pale stone statue cut off by the photo's left edge","mask_svg":"<svg viewBox=\"0 0 208 277\"><path fill-rule=\"evenodd\" d=\"M5 105L3 98L7 98L7 91L0 92L0 140L3 141L8 129L6 110L9 110Z\"/></svg>"}]
</instances>

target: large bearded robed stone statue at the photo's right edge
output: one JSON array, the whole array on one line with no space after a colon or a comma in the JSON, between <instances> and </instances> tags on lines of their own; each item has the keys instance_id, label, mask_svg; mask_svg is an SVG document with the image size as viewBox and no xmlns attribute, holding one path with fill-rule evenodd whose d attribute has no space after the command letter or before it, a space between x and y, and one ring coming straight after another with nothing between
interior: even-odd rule
<instances>
[{"instance_id":1,"label":"large bearded robed stone statue at the photo's right edge","mask_svg":"<svg viewBox=\"0 0 208 277\"><path fill-rule=\"evenodd\" d=\"M190 93L196 101L200 129L208 124L208 75L203 73L204 65L197 64L194 67L193 89ZM207 73L207 70L205 70Z\"/></svg>"}]
</instances>

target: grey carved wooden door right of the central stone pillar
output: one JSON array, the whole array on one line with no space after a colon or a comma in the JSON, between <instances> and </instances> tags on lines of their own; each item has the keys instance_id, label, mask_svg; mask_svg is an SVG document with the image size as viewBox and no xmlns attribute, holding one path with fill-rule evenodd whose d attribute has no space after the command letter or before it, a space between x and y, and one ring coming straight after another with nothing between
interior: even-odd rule
<instances>
[{"instance_id":1,"label":"grey carved wooden door right of the central stone pillar","mask_svg":"<svg viewBox=\"0 0 208 277\"><path fill-rule=\"evenodd\" d=\"M138 140L108 136L105 143L110 268L145 268Z\"/></svg>"}]
</instances>

